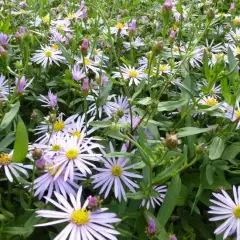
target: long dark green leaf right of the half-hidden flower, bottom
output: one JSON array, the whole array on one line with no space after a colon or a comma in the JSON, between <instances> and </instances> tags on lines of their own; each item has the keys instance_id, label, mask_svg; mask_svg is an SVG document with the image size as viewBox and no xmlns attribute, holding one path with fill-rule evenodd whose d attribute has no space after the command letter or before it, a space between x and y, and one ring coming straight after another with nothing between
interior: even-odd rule
<instances>
[{"instance_id":1,"label":"long dark green leaf right of the half-hidden flower, bottom","mask_svg":"<svg viewBox=\"0 0 240 240\"><path fill-rule=\"evenodd\" d=\"M179 175L172 178L171 184L168 187L166 197L158 212L157 219L159 223L164 227L168 219L171 217L172 212L177 204L177 199L181 191L181 179Z\"/></svg>"}]
</instances>

